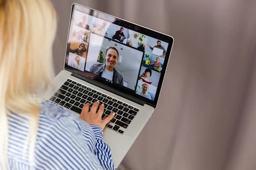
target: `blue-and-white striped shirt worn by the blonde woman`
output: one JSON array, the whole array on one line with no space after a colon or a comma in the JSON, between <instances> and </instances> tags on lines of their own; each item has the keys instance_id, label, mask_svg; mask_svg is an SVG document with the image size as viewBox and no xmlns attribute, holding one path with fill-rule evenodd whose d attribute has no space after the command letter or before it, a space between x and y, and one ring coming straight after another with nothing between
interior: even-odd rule
<instances>
[{"instance_id":1,"label":"blue-and-white striped shirt worn by the blonde woman","mask_svg":"<svg viewBox=\"0 0 256 170\"><path fill-rule=\"evenodd\" d=\"M28 150L24 152L29 117L9 113L8 121L7 169L114 170L102 129L88 125L54 102L41 104L33 167L29 165Z\"/></svg>"}]
</instances>

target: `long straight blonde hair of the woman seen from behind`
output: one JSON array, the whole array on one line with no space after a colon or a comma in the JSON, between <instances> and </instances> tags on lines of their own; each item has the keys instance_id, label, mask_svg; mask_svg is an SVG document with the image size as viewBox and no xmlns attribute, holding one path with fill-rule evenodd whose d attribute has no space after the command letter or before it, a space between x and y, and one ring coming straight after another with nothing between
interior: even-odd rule
<instances>
[{"instance_id":1,"label":"long straight blonde hair of the woman seen from behind","mask_svg":"<svg viewBox=\"0 0 256 170\"><path fill-rule=\"evenodd\" d=\"M24 153L33 164L41 96L52 84L55 10L49 0L0 0L0 164L6 169L8 114L29 117ZM1 167L0 167L1 169Z\"/></svg>"}]
</instances>

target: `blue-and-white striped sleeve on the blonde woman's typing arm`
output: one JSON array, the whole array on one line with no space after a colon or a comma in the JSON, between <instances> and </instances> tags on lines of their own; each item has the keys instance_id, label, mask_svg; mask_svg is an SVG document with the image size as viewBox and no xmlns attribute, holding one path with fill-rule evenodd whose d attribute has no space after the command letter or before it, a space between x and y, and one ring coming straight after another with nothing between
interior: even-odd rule
<instances>
[{"instance_id":1,"label":"blue-and-white striped sleeve on the blonde woman's typing arm","mask_svg":"<svg viewBox=\"0 0 256 170\"><path fill-rule=\"evenodd\" d=\"M102 132L98 130L95 135L86 122L81 123L67 110L60 112L37 141L36 166L50 170L114 170L110 148L100 138Z\"/></svg>"}]
</instances>

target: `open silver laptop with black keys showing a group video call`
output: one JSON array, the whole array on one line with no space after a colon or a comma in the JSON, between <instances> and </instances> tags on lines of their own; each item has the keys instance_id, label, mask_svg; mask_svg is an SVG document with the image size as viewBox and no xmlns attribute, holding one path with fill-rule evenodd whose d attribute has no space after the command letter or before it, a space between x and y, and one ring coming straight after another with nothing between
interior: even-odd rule
<instances>
[{"instance_id":1,"label":"open silver laptop with black keys showing a group video call","mask_svg":"<svg viewBox=\"0 0 256 170\"><path fill-rule=\"evenodd\" d=\"M137 38L129 34L134 31ZM120 42L123 35L138 44ZM158 40L166 48L161 73L154 65L145 65L152 55L147 44L155 46ZM91 106L96 101L105 105L102 119L116 113L103 138L118 167L157 107L172 45L173 38L166 34L74 3L64 69L55 77L55 91L49 90L44 97L75 116L85 103ZM145 77L146 71L150 77Z\"/></svg>"}]
</instances>

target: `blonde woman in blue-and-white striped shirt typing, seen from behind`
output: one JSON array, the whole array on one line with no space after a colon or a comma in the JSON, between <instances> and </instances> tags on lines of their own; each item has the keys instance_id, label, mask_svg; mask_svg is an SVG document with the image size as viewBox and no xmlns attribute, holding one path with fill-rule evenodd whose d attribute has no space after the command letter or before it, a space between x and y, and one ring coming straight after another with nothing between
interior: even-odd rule
<instances>
[{"instance_id":1,"label":"blonde woman in blue-and-white striped shirt typing, seen from behind","mask_svg":"<svg viewBox=\"0 0 256 170\"><path fill-rule=\"evenodd\" d=\"M78 118L42 98L54 89L55 32L49 0L0 0L0 169L114 170L102 138L114 115L101 119L95 102Z\"/></svg>"}]
</instances>

